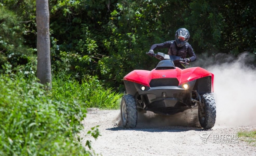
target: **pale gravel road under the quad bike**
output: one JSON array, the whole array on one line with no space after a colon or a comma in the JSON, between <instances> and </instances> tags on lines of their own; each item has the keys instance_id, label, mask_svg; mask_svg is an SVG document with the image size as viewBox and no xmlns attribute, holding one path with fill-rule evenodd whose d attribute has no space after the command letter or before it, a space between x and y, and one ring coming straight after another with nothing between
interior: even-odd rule
<instances>
[{"instance_id":1,"label":"pale gravel road under the quad bike","mask_svg":"<svg viewBox=\"0 0 256 156\"><path fill-rule=\"evenodd\" d=\"M251 126L222 126L216 120L211 130L199 127L196 109L173 116L148 112L138 116L134 129L124 129L120 110L88 110L82 121L85 130L80 133L82 144L92 141L92 152L102 156L252 156L256 146L236 138L240 130L256 130ZM99 126L97 140L85 136L93 126ZM201 136L204 138L201 138ZM208 136L206 140L205 137Z\"/></svg>"}]
</instances>

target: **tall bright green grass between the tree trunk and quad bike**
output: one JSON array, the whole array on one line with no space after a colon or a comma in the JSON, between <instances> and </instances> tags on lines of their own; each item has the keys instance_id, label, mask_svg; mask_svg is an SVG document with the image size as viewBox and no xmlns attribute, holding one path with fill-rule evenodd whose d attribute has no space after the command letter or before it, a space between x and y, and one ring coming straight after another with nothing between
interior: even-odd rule
<instances>
[{"instance_id":1,"label":"tall bright green grass between the tree trunk and quad bike","mask_svg":"<svg viewBox=\"0 0 256 156\"><path fill-rule=\"evenodd\" d=\"M82 101L84 107L100 109L118 109L122 94L112 88L102 87L97 77L85 75L81 81L71 75L54 75L51 96L57 100L70 98Z\"/></svg>"}]
</instances>

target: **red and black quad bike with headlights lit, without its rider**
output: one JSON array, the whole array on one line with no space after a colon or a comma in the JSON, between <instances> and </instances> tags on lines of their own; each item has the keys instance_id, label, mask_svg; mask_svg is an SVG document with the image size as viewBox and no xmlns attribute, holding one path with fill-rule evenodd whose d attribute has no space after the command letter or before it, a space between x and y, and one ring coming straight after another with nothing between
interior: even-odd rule
<instances>
[{"instance_id":1,"label":"red and black quad bike with headlights lit, without its rider","mask_svg":"<svg viewBox=\"0 0 256 156\"><path fill-rule=\"evenodd\" d=\"M174 115L196 106L202 128L212 128L216 120L216 104L211 95L214 74L201 67L175 67L177 61L185 63L178 56L156 53L154 57L160 60L155 69L134 70L124 77L126 94L120 105L124 128L136 127L138 112Z\"/></svg>"}]
</instances>

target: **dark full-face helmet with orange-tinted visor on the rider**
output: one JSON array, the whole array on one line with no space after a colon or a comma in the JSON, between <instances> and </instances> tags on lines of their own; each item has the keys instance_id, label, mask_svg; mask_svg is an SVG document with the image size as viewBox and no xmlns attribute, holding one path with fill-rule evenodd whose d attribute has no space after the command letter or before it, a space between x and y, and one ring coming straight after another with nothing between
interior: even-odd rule
<instances>
[{"instance_id":1,"label":"dark full-face helmet with orange-tinted visor on the rider","mask_svg":"<svg viewBox=\"0 0 256 156\"><path fill-rule=\"evenodd\" d=\"M185 45L189 39L190 35L188 30L185 28L180 28L175 33L175 42L178 47Z\"/></svg>"}]
</instances>

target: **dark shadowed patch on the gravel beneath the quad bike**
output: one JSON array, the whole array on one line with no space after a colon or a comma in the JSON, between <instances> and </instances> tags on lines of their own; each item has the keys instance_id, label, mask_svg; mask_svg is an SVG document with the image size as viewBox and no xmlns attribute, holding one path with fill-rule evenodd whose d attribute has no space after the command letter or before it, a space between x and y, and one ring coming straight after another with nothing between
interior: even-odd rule
<instances>
[{"instance_id":1,"label":"dark shadowed patch on the gravel beneath the quad bike","mask_svg":"<svg viewBox=\"0 0 256 156\"><path fill-rule=\"evenodd\" d=\"M203 130L198 121L198 108L188 109L175 115L158 115L148 111L138 113L138 121L135 128L124 128L120 114L116 120L116 127L107 130L139 130L147 132L182 132L188 130Z\"/></svg>"}]
</instances>

